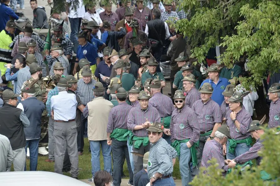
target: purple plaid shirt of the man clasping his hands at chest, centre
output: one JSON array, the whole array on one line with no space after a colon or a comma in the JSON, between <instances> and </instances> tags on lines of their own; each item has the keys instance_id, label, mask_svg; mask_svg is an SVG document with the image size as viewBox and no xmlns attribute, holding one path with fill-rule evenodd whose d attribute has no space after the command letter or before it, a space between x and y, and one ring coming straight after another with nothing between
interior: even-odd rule
<instances>
[{"instance_id":1,"label":"purple plaid shirt of the man clasping his hands at chest, centre","mask_svg":"<svg viewBox=\"0 0 280 186\"><path fill-rule=\"evenodd\" d=\"M133 132L134 136L148 137L148 131L146 129L134 130L136 125L142 125L146 122L146 119L155 123L161 122L160 115L156 108L148 106L146 111L142 111L140 104L137 107L132 108L129 111L127 119L127 128Z\"/></svg>"}]
</instances>

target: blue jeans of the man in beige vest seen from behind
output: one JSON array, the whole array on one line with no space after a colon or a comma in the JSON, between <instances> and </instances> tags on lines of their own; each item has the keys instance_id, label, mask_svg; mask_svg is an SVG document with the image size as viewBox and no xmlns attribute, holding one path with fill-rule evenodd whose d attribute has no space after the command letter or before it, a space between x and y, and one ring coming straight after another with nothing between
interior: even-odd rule
<instances>
[{"instance_id":1,"label":"blue jeans of the man in beige vest seen from behind","mask_svg":"<svg viewBox=\"0 0 280 186\"><path fill-rule=\"evenodd\" d=\"M90 140L90 147L91 147L91 173L92 177L94 174L100 170L100 145L103 155L104 161L104 170L109 172L112 175L112 156L111 150L112 147L107 144L106 140L102 141L91 141Z\"/></svg>"}]
</instances>

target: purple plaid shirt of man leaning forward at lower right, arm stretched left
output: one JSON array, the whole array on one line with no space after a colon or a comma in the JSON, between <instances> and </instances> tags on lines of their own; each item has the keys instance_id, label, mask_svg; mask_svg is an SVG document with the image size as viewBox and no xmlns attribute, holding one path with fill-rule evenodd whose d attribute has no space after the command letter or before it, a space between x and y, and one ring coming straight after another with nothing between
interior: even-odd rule
<instances>
[{"instance_id":1,"label":"purple plaid shirt of man leaning forward at lower right, arm stretched left","mask_svg":"<svg viewBox=\"0 0 280 186\"><path fill-rule=\"evenodd\" d=\"M239 164L244 164L246 161L253 160L259 157L258 152L264 147L261 143L261 140L257 140L256 143L249 149L249 151L245 152L244 154L239 155L238 157L234 158L234 161Z\"/></svg>"}]
</instances>

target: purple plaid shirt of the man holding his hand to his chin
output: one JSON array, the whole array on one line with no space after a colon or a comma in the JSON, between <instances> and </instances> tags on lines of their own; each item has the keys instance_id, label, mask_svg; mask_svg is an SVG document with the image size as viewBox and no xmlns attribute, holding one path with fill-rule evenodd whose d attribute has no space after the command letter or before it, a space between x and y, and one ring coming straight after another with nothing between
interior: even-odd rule
<instances>
[{"instance_id":1,"label":"purple plaid shirt of the man holding his hand to his chin","mask_svg":"<svg viewBox=\"0 0 280 186\"><path fill-rule=\"evenodd\" d=\"M226 111L226 124L230 128L230 134L232 139L240 140L250 136L247 132L250 123L252 122L251 115L244 107L236 114L236 120L240 123L240 131L236 128L235 124L231 120L231 110Z\"/></svg>"}]
</instances>

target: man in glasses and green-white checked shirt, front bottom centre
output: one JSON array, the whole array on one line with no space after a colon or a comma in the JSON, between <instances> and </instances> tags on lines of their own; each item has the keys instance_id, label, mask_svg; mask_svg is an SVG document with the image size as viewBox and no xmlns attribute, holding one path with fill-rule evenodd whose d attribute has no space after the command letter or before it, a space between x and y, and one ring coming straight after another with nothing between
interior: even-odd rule
<instances>
[{"instance_id":1,"label":"man in glasses and green-white checked shirt, front bottom centre","mask_svg":"<svg viewBox=\"0 0 280 186\"><path fill-rule=\"evenodd\" d=\"M153 123L148 129L151 143L147 172L150 184L175 186L172 177L177 152L162 138L164 126Z\"/></svg>"}]
</instances>

